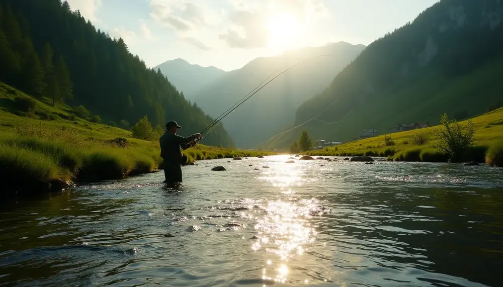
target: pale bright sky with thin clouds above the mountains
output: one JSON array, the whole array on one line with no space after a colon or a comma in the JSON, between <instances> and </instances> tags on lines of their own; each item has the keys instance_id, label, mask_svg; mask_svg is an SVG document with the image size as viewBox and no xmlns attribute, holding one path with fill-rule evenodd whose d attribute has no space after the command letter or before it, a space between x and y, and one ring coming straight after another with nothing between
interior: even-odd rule
<instances>
[{"instance_id":1,"label":"pale bright sky with thin clouds above the mountains","mask_svg":"<svg viewBox=\"0 0 503 287\"><path fill-rule=\"evenodd\" d=\"M339 41L369 45L438 0L67 0L155 67L182 58L233 70Z\"/></svg>"}]
</instances>

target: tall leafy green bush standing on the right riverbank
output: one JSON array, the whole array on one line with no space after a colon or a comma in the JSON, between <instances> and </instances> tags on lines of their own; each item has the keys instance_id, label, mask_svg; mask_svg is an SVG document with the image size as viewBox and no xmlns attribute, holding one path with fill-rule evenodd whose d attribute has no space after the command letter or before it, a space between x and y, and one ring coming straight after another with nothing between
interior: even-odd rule
<instances>
[{"instance_id":1,"label":"tall leafy green bush standing on the right riverbank","mask_svg":"<svg viewBox=\"0 0 503 287\"><path fill-rule=\"evenodd\" d=\"M451 161L459 161L463 151L473 145L473 122L468 121L467 125L462 127L456 120L449 120L447 114L443 114L440 123L444 128L436 130L436 136L439 138L437 148L448 154Z\"/></svg>"}]
</instances>

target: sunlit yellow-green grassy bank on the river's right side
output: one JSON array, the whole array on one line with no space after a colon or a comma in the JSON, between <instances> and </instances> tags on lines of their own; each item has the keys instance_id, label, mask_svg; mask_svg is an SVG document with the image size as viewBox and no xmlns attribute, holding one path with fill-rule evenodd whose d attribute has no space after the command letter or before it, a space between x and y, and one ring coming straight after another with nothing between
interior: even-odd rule
<instances>
[{"instance_id":1,"label":"sunlit yellow-green grassy bank on the river's right side","mask_svg":"<svg viewBox=\"0 0 503 287\"><path fill-rule=\"evenodd\" d=\"M466 125L468 120L460 122ZM489 165L501 166L503 144L503 108L471 119L474 124L473 146L461 155L461 161L487 162ZM447 162L448 155L438 150L439 138L435 130L443 126L391 133L366 138L354 142L327 147L322 150L311 150L308 155L318 156L383 156L395 161Z\"/></svg>"}]
</instances>

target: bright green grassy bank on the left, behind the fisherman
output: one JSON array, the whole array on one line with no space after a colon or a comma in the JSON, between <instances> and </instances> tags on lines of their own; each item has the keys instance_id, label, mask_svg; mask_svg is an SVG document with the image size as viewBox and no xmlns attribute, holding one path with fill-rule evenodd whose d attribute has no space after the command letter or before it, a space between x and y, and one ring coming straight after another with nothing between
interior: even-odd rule
<instances>
[{"instance_id":1,"label":"bright green grassy bank on the left, behind the fisherman","mask_svg":"<svg viewBox=\"0 0 503 287\"><path fill-rule=\"evenodd\" d=\"M156 140L133 138L130 131L89 122L76 117L68 106L49 103L50 99L36 100L0 82L3 193L60 190L72 182L120 179L162 166ZM190 162L271 154L204 145L184 153Z\"/></svg>"}]
</instances>

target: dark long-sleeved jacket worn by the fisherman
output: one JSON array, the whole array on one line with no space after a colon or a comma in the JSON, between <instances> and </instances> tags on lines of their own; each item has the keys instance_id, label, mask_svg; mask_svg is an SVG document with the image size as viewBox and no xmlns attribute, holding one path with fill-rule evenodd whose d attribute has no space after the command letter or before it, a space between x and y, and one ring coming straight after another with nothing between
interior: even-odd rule
<instances>
[{"instance_id":1,"label":"dark long-sleeved jacket worn by the fisherman","mask_svg":"<svg viewBox=\"0 0 503 287\"><path fill-rule=\"evenodd\" d=\"M196 135L182 137L177 134L165 132L159 138L160 156L164 159L165 163L180 164L182 161L182 149L190 147L188 143L193 141Z\"/></svg>"}]
</instances>

